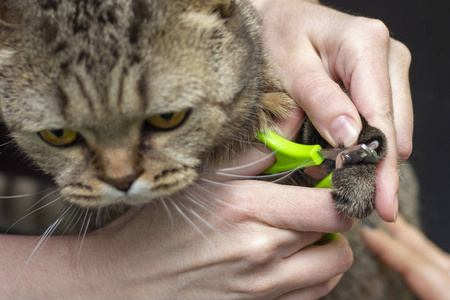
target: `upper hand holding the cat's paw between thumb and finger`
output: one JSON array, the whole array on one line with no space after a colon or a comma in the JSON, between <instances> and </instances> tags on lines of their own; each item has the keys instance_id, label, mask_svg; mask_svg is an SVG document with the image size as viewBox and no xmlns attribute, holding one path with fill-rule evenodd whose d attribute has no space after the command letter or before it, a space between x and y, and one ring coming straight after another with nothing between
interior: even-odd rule
<instances>
[{"instance_id":1,"label":"upper hand holding the cat's paw between thumb and finger","mask_svg":"<svg viewBox=\"0 0 450 300\"><path fill-rule=\"evenodd\" d=\"M286 91L332 145L354 144L361 113L387 137L375 207L386 221L398 213L398 159L412 151L409 50L378 20L299 0L251 0L264 22L264 46ZM342 82L352 101L342 92Z\"/></svg>"}]
</instances>

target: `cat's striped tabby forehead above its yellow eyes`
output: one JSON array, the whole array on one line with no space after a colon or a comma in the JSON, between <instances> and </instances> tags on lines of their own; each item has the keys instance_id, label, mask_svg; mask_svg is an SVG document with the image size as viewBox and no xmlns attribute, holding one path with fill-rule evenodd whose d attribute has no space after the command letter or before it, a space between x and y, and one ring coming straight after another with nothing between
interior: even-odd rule
<instances>
[{"instance_id":1,"label":"cat's striped tabby forehead above its yellow eyes","mask_svg":"<svg viewBox=\"0 0 450 300\"><path fill-rule=\"evenodd\" d=\"M22 44L6 53L16 59L0 63L14 78L0 78L2 110L30 120L17 128L82 126L114 107L133 118L229 103L252 79L242 66L255 49L214 13L217 1L30 1Z\"/></svg>"}]
</instances>

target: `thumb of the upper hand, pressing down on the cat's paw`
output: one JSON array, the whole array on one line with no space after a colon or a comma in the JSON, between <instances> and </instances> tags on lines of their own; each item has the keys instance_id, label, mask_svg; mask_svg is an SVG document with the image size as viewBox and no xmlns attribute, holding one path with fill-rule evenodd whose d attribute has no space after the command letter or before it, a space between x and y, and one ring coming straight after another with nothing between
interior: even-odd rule
<instances>
[{"instance_id":1,"label":"thumb of the upper hand, pressing down on the cat's paw","mask_svg":"<svg viewBox=\"0 0 450 300\"><path fill-rule=\"evenodd\" d=\"M274 62L283 87L306 111L314 126L331 145L353 145L362 123L357 109L337 83L339 79L330 78L328 66L324 68L329 59L328 53L318 54L320 51L317 48L323 44L313 42L313 37L320 36L327 41L324 44L330 45L328 36L322 34L320 29L323 27L322 23L317 22L316 26L312 27L314 29L304 28L305 33L311 36L299 34L297 28L302 26L301 24L292 27L292 24L299 24L299 20L305 20L305 17L320 16L327 19L324 23L328 24L328 17L332 17L330 15L345 14L314 4L305 6L302 2L278 1L273 4L273 1L268 1L267 5L270 9L266 7L260 10L264 27L267 29L264 30L264 45ZM282 19L276 17L287 7L292 14L284 14ZM305 9L309 13L301 13ZM269 16L265 15L266 12ZM330 32L329 28L323 29L323 32ZM331 48L335 50L337 47Z\"/></svg>"}]
</instances>

